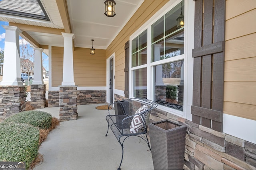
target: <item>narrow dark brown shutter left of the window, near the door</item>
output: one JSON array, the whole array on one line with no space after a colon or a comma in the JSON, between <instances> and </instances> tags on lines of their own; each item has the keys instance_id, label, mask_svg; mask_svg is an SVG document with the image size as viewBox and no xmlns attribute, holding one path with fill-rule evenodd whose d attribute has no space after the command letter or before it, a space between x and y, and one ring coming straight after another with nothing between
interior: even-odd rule
<instances>
[{"instance_id":1,"label":"narrow dark brown shutter left of the window, near the door","mask_svg":"<svg viewBox=\"0 0 256 170\"><path fill-rule=\"evenodd\" d=\"M129 98L129 41L125 43L124 97Z\"/></svg>"}]
</instances>

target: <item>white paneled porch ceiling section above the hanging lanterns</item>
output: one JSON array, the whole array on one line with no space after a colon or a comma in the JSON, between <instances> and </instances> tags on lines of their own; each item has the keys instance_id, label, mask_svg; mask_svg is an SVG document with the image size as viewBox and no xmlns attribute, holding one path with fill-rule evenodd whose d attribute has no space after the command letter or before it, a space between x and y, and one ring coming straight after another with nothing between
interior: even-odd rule
<instances>
[{"instance_id":1,"label":"white paneled porch ceiling section above the hanging lanterns","mask_svg":"<svg viewBox=\"0 0 256 170\"><path fill-rule=\"evenodd\" d=\"M116 16L104 15L105 0L67 0L75 47L106 49L144 0L115 0Z\"/></svg>"}]
</instances>

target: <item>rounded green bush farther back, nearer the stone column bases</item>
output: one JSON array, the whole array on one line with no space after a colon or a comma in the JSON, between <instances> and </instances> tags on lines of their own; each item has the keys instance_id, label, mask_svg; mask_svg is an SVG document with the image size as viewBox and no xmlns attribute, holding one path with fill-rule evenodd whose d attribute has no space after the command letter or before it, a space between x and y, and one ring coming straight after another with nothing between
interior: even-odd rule
<instances>
[{"instance_id":1,"label":"rounded green bush farther back, nearer the stone column bases","mask_svg":"<svg viewBox=\"0 0 256 170\"><path fill-rule=\"evenodd\" d=\"M5 122L26 123L40 129L48 129L52 122L52 115L44 111L22 111L5 119Z\"/></svg>"}]
</instances>

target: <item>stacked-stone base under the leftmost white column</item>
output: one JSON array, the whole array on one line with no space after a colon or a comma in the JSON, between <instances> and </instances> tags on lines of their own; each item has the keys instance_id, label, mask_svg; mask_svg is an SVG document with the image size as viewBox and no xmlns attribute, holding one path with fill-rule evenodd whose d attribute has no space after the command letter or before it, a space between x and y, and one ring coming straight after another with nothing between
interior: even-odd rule
<instances>
[{"instance_id":1,"label":"stacked-stone base under the leftmost white column","mask_svg":"<svg viewBox=\"0 0 256 170\"><path fill-rule=\"evenodd\" d=\"M0 86L0 121L25 111L25 86Z\"/></svg>"}]
</instances>

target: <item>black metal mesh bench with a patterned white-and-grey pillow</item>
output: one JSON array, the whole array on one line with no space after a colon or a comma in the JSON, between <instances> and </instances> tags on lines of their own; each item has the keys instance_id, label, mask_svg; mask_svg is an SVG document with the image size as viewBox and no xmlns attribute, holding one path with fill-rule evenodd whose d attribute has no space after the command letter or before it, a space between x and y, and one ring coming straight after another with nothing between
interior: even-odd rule
<instances>
[{"instance_id":1,"label":"black metal mesh bench with a patterned white-and-grey pillow","mask_svg":"<svg viewBox=\"0 0 256 170\"><path fill-rule=\"evenodd\" d=\"M106 120L108 122L108 130L109 128L112 130L122 147L122 158L118 167L118 170L120 170L124 156L124 141L128 137L140 137L148 144L151 151L146 133L148 132L150 110L156 108L158 104L148 99L130 98L114 102L108 108L111 105L114 105L115 115L110 115L110 110L108 109ZM108 136L108 131L106 136Z\"/></svg>"}]
</instances>

